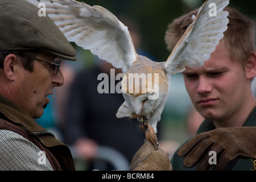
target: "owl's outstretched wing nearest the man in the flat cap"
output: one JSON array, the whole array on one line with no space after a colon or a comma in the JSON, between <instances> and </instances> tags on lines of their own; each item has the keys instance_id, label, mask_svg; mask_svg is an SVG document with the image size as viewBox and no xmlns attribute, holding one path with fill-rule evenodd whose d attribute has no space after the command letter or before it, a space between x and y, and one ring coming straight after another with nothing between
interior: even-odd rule
<instances>
[{"instance_id":1,"label":"owl's outstretched wing nearest the man in the flat cap","mask_svg":"<svg viewBox=\"0 0 256 182\"><path fill-rule=\"evenodd\" d=\"M101 6L89 6L75 0L27 0L46 5L47 15L55 22L69 42L90 51L127 71L137 53L128 28ZM40 6L39 6L40 8Z\"/></svg>"}]
</instances>

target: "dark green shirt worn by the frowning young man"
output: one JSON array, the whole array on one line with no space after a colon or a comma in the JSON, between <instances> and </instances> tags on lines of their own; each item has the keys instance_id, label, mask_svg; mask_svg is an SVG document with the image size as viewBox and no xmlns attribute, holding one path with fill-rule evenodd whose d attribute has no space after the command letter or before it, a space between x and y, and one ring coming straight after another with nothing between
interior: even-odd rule
<instances>
[{"instance_id":1,"label":"dark green shirt worn by the frowning young man","mask_svg":"<svg viewBox=\"0 0 256 182\"><path fill-rule=\"evenodd\" d=\"M246 119L243 126L256 126L256 107L253 109L253 111L251 111L249 117ZM210 130L214 130L214 129L216 129L216 127L214 126L213 122L205 119L204 122L201 123L196 134L200 134L205 131L210 131ZM188 140L186 142L188 142ZM183 144L185 144L185 143L183 143ZM181 146L183 146L183 144ZM179 148L178 148L178 150L179 150ZM192 168L186 168L183 165L183 160L184 160L184 158L180 158L177 155L177 151L176 151L174 156L172 156L172 159L171 159L171 164L172 164L174 171L195 171L197 165ZM250 171L251 169L254 169L253 162L251 159L238 159L237 163L232 168L233 171Z\"/></svg>"}]
</instances>

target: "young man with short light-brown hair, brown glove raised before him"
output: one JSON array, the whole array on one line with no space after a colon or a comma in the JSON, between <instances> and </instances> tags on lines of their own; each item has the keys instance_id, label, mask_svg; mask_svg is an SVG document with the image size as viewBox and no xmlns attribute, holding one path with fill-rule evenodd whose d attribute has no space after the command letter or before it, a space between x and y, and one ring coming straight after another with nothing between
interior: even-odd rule
<instances>
[{"instance_id":1,"label":"young man with short light-brown hair, brown glove raised before him","mask_svg":"<svg viewBox=\"0 0 256 182\"><path fill-rule=\"evenodd\" d=\"M174 170L209 169L212 164L215 170L254 168L251 160L256 158L256 100L251 93L251 80L256 75L254 23L235 9L224 10L229 11L224 38L202 67L187 67L183 72L191 101L205 121L196 137L180 148L179 156L175 154L172 158ZM168 49L174 47L196 12L181 16L168 26L165 38ZM211 160L214 154L216 160Z\"/></svg>"}]
</instances>

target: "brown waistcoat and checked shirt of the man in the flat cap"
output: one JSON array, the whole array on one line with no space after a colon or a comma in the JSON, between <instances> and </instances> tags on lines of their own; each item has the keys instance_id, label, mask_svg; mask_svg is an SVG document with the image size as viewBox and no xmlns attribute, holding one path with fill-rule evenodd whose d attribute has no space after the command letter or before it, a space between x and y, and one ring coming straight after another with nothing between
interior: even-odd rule
<instances>
[{"instance_id":1,"label":"brown waistcoat and checked shirt of the man in the flat cap","mask_svg":"<svg viewBox=\"0 0 256 182\"><path fill-rule=\"evenodd\" d=\"M69 148L0 94L0 170L75 170Z\"/></svg>"}]
</instances>

